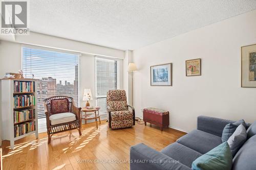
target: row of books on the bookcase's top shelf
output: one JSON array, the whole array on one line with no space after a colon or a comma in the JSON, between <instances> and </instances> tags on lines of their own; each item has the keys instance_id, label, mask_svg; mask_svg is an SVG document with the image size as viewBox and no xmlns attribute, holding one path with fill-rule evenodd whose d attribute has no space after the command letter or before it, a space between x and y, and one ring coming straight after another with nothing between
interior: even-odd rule
<instances>
[{"instance_id":1,"label":"row of books on the bookcase's top shelf","mask_svg":"<svg viewBox=\"0 0 256 170\"><path fill-rule=\"evenodd\" d=\"M34 92L35 84L34 82L21 82L21 81L14 81L13 86L14 93L19 92Z\"/></svg>"}]
</instances>

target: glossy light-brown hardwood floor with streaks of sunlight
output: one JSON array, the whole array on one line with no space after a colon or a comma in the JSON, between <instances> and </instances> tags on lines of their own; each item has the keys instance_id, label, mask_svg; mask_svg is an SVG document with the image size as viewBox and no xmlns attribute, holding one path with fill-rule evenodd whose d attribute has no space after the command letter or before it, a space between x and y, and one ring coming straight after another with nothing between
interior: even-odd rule
<instances>
[{"instance_id":1,"label":"glossy light-brown hardwood floor with streaks of sunlight","mask_svg":"<svg viewBox=\"0 0 256 170\"><path fill-rule=\"evenodd\" d=\"M185 133L174 129L160 131L158 127L137 124L132 128L110 130L103 120L99 129L95 123L77 130L53 135L47 144L47 133L15 141L3 141L4 169L129 169L127 162L131 145L143 142L160 151ZM111 162L112 160L112 162ZM105 162L104 162L105 161ZM119 162L121 163L119 163ZM115 163L118 162L118 163Z\"/></svg>"}]
</instances>

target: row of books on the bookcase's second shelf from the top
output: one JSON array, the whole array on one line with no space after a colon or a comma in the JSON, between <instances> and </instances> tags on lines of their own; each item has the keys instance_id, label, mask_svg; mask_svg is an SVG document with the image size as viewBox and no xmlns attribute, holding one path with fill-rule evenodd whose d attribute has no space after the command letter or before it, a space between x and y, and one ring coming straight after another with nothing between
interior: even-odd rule
<instances>
[{"instance_id":1,"label":"row of books on the bookcase's second shelf from the top","mask_svg":"<svg viewBox=\"0 0 256 170\"><path fill-rule=\"evenodd\" d=\"M13 96L13 106L14 108L34 106L35 96L31 95L14 95Z\"/></svg>"}]
</instances>

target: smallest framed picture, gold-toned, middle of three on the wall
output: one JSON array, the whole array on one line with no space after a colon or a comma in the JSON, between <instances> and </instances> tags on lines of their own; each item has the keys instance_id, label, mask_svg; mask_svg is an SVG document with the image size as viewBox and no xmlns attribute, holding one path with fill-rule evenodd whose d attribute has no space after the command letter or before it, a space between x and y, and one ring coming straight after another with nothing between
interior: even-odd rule
<instances>
[{"instance_id":1,"label":"smallest framed picture, gold-toned, middle of three on the wall","mask_svg":"<svg viewBox=\"0 0 256 170\"><path fill-rule=\"evenodd\" d=\"M201 76L201 59L186 60L186 76Z\"/></svg>"}]
</instances>

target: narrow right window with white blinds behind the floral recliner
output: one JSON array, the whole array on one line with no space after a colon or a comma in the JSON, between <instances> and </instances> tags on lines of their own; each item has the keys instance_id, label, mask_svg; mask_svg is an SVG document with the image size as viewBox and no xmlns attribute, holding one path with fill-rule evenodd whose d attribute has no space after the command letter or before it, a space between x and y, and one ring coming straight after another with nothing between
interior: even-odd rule
<instances>
[{"instance_id":1,"label":"narrow right window with white blinds behind the floral recliner","mask_svg":"<svg viewBox=\"0 0 256 170\"><path fill-rule=\"evenodd\" d=\"M106 92L118 89L119 69L118 60L110 60L96 57L95 59L95 84L96 84L96 105L100 106L99 113L106 114Z\"/></svg>"}]
</instances>

